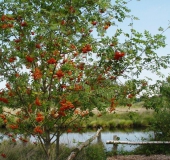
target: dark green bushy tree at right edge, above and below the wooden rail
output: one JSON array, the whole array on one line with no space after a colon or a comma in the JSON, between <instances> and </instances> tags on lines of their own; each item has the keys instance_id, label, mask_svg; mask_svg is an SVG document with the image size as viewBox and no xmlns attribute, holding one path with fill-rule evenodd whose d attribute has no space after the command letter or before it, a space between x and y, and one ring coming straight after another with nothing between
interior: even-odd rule
<instances>
[{"instance_id":1,"label":"dark green bushy tree at right edge, above and below the wooden rail","mask_svg":"<svg viewBox=\"0 0 170 160\"><path fill-rule=\"evenodd\" d=\"M157 141L169 141L170 140L170 113L169 113L169 95L170 95L170 81L169 77L165 81L157 81L156 84L147 86L150 93L145 93L142 97L144 107L153 109L153 120L149 127L150 131L154 132L152 140ZM155 87L156 86L156 87ZM147 151L147 154L169 154L170 150L167 145L146 145L139 147L139 151Z\"/></svg>"}]
</instances>

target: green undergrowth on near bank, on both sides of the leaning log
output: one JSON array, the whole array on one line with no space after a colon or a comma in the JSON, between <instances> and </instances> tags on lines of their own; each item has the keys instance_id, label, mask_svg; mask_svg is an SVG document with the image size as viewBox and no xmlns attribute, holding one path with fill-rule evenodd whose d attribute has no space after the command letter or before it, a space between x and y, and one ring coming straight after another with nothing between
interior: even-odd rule
<instances>
[{"instance_id":1,"label":"green undergrowth on near bank, on both sides of the leaning log","mask_svg":"<svg viewBox=\"0 0 170 160\"><path fill-rule=\"evenodd\" d=\"M66 160L73 148L60 145L60 155L57 160ZM5 154L3 158L1 154ZM12 143L5 140L0 144L0 159L6 160L43 160L45 154L39 145L32 143ZM52 159L56 159L55 147L52 148ZM75 160L106 160L106 152L103 143L91 144L85 147L76 157Z\"/></svg>"}]
</instances>

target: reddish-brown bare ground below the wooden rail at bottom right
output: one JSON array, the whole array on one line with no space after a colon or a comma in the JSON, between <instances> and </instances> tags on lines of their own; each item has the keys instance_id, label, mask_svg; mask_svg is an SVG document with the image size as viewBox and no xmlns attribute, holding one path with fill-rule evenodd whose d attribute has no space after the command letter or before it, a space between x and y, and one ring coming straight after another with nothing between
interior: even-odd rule
<instances>
[{"instance_id":1,"label":"reddish-brown bare ground below the wooden rail at bottom right","mask_svg":"<svg viewBox=\"0 0 170 160\"><path fill-rule=\"evenodd\" d=\"M114 156L108 157L107 160L170 160L170 155L126 155L126 156Z\"/></svg>"}]
</instances>

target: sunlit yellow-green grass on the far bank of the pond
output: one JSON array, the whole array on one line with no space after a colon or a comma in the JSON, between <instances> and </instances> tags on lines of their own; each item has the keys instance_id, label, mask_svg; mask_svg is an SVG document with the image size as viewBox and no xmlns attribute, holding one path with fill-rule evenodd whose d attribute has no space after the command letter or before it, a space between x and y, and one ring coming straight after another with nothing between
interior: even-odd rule
<instances>
[{"instance_id":1,"label":"sunlit yellow-green grass on the far bank of the pond","mask_svg":"<svg viewBox=\"0 0 170 160\"><path fill-rule=\"evenodd\" d=\"M138 128L148 127L153 120L153 111L141 107L141 103L132 106L130 110L118 107L114 113L102 113L101 117L94 115L82 125L88 128Z\"/></svg>"}]
</instances>

